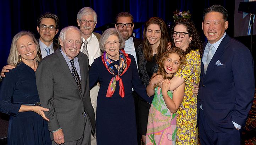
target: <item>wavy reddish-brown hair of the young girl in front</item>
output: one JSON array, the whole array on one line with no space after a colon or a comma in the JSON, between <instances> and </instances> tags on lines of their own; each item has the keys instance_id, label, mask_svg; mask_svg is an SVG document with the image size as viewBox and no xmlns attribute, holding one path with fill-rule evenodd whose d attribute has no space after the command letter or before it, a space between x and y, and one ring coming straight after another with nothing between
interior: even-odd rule
<instances>
[{"instance_id":1,"label":"wavy reddish-brown hair of the young girl in front","mask_svg":"<svg viewBox=\"0 0 256 145\"><path fill-rule=\"evenodd\" d=\"M186 63L186 54L182 49L179 49L177 47L173 47L172 49L167 50L165 53L163 53L162 58L157 61L159 68L156 74L152 75L151 79L154 78L156 75L161 74L163 76L163 79L172 79L173 75L171 77L166 76L166 71L164 68L164 64L166 59L168 58L169 54L176 53L179 55L179 61L180 61L180 66L183 66ZM154 88L157 87L157 84L154 85Z\"/></svg>"}]
</instances>

